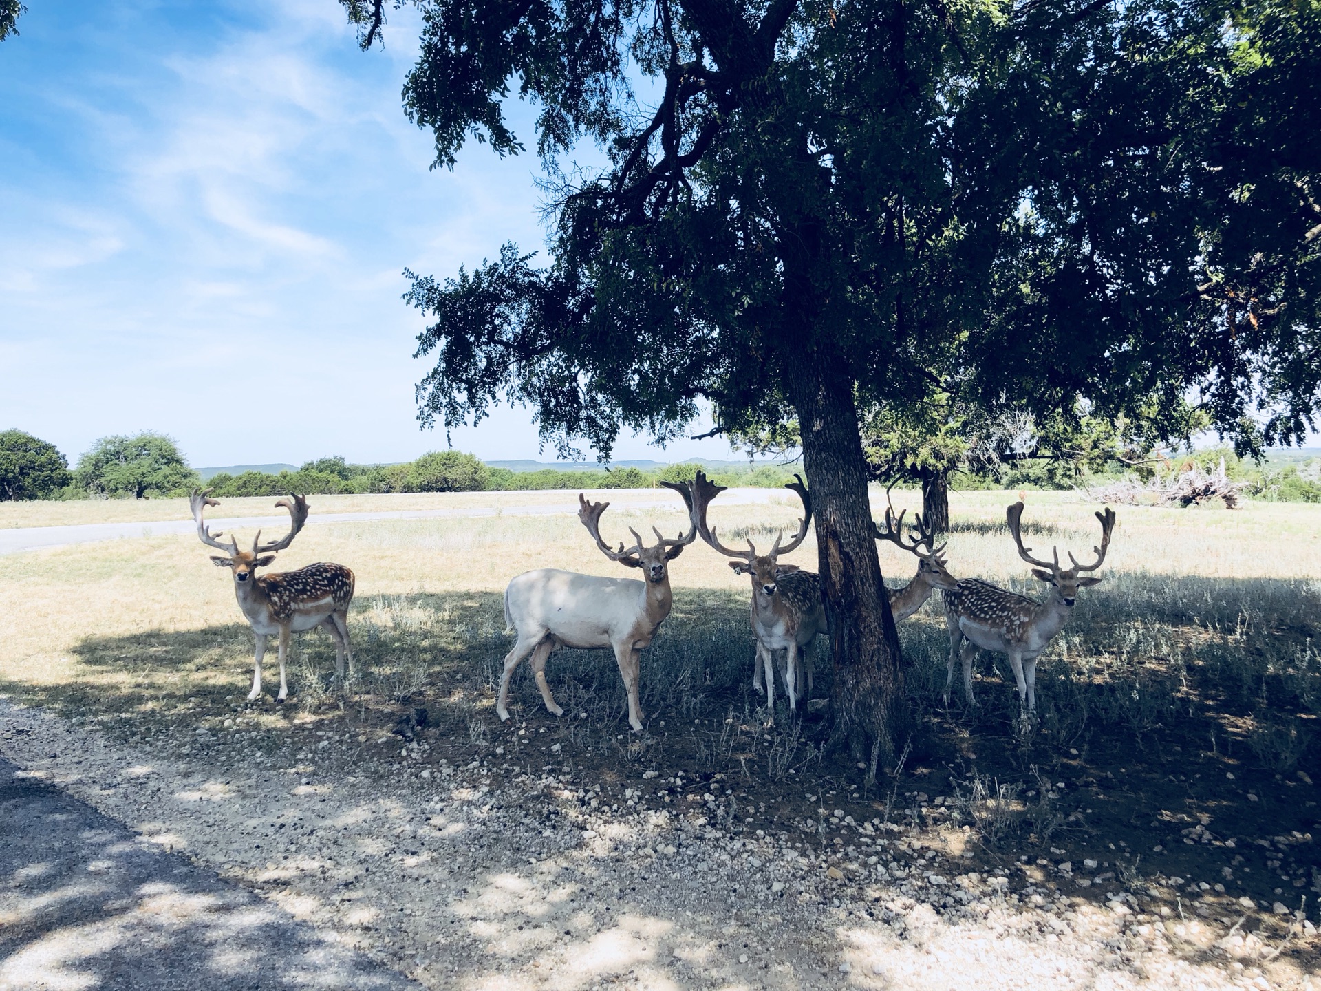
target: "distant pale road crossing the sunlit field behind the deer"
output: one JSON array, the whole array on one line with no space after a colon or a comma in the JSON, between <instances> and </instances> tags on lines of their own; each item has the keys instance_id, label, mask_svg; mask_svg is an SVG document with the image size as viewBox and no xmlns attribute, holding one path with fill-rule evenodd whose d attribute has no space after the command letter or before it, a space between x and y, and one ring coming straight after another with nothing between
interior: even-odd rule
<instances>
[{"instance_id":1,"label":"distant pale road crossing the sunlit field behind the deer","mask_svg":"<svg viewBox=\"0 0 1321 991\"><path fill-rule=\"evenodd\" d=\"M779 494L778 489L737 489L729 492L720 499L721 505L749 505L768 502L771 495ZM674 509L678 499L654 498L650 493L645 498L633 498L630 494L620 492L596 493L594 498L606 498L618 506L627 509ZM572 502L548 502L532 506L477 506L470 509L419 509L398 510L391 513L312 513L308 517L308 526L314 523L351 523L374 519L464 519L477 517L542 517L576 514L579 510L577 498ZM289 517L287 513L271 517L239 517L230 519L209 519L211 530L229 532L230 530L255 531L259 527L272 530L288 529ZM37 547L61 547L71 543L94 543L96 540L122 540L143 536L161 536L164 534L190 534L194 531L190 519L161 519L149 523L85 523L81 526L33 526L0 530L0 554L15 554L17 551L30 551Z\"/></svg>"}]
</instances>

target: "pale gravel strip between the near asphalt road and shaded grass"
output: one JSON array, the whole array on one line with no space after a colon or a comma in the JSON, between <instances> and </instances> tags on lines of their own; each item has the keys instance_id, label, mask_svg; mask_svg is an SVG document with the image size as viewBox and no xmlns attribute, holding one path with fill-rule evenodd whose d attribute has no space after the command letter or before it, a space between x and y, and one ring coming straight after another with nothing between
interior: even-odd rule
<instances>
[{"instance_id":1,"label":"pale gravel strip between the near asphalt road and shaded grass","mask_svg":"<svg viewBox=\"0 0 1321 991\"><path fill-rule=\"evenodd\" d=\"M1312 987L1242 934L1144 917L1122 887L1070 899L1028 864L982 876L909 827L762 834L716 815L715 786L690 805L622 760L602 788L342 719L240 710L127 745L0 703L0 752L433 988Z\"/></svg>"}]
</instances>

